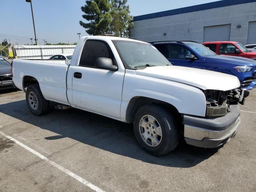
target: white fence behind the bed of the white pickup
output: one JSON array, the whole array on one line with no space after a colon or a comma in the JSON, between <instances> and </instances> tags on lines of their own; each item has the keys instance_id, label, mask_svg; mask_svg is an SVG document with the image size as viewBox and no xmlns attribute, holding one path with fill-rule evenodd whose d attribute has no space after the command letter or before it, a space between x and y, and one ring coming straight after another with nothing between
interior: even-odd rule
<instances>
[{"instance_id":1,"label":"white fence behind the bed of the white pickup","mask_svg":"<svg viewBox=\"0 0 256 192\"><path fill-rule=\"evenodd\" d=\"M55 54L73 54L76 45L14 45L14 54L19 59L49 59Z\"/></svg>"}]
</instances>

